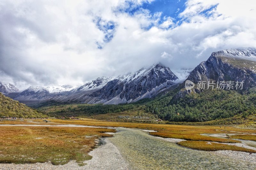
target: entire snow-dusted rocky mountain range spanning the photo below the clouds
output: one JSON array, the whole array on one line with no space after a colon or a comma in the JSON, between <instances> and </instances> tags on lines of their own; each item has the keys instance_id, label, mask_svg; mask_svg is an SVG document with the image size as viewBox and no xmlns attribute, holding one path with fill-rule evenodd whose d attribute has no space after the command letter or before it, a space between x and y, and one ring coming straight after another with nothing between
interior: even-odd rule
<instances>
[{"instance_id":1,"label":"entire snow-dusted rocky mountain range spanning the photo below the clouds","mask_svg":"<svg viewBox=\"0 0 256 170\"><path fill-rule=\"evenodd\" d=\"M184 80L191 80L194 83L244 81L244 89L248 89L256 84L255 62L255 48L236 48L213 52L207 61L201 62L194 70L176 71L178 76L170 68L157 63L133 73L116 77L100 77L80 87L31 86L19 92L15 86L1 83L1 92L28 105L45 102L132 103L145 98L154 98L157 94L168 91L171 86L183 83ZM188 93L183 90L179 96Z\"/></svg>"}]
</instances>

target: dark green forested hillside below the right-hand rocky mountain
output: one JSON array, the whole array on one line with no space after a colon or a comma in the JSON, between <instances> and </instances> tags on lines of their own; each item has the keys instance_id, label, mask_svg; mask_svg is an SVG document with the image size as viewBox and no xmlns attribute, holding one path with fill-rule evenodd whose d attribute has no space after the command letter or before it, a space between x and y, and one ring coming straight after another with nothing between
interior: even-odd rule
<instances>
[{"instance_id":1,"label":"dark green forested hillside below the right-hand rocky mountain","mask_svg":"<svg viewBox=\"0 0 256 170\"><path fill-rule=\"evenodd\" d=\"M174 122L203 122L256 113L256 88L235 90L205 90L192 93L179 100L172 96L155 99L145 105L146 112Z\"/></svg>"}]
</instances>

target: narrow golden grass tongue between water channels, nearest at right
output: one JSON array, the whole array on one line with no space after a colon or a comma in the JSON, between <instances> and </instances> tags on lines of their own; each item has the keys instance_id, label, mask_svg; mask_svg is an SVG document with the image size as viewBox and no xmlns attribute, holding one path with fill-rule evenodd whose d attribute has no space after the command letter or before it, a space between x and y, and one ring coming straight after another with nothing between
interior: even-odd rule
<instances>
[{"instance_id":1,"label":"narrow golden grass tongue between water channels, nearest at right","mask_svg":"<svg viewBox=\"0 0 256 170\"><path fill-rule=\"evenodd\" d=\"M187 148L203 150L203 151L220 151L220 150L230 150L230 151L241 151L241 152L249 152L256 153L255 150L242 148L234 145L228 144L219 144L219 143L211 143L207 144L205 141L181 141L178 144Z\"/></svg>"}]
</instances>

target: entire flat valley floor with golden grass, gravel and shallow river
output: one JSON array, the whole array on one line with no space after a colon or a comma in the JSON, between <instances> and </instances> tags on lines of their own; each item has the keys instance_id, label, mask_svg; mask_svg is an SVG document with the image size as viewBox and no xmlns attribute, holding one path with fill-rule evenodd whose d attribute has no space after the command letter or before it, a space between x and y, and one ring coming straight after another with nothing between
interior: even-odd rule
<instances>
[{"instance_id":1,"label":"entire flat valley floor with golden grass, gravel and shallow river","mask_svg":"<svg viewBox=\"0 0 256 170\"><path fill-rule=\"evenodd\" d=\"M51 119L50 121L46 123L39 119L0 122L3 131L1 134L4 134L0 137L0 161L2 163L45 162L0 164L0 169L148 169L154 166L160 169L256 168L256 130L217 126L122 123L89 119ZM102 127L108 127L108 129L102 129ZM42 129L44 132L40 134L37 130ZM116 133L113 133L114 129ZM17 134L10 135L11 131ZM148 135L148 132L154 136ZM75 136L70 136L71 134ZM114 137L110 137L111 135ZM54 137L55 141L52 141L50 136ZM30 151L35 151L34 154L39 151L41 154L44 153L44 159L22 159L29 158L31 153L20 150L23 155L21 156L14 152L17 147L19 149L28 147L31 141L37 144L30 145ZM88 142L85 144L84 141L90 141L92 145ZM58 142L57 150L54 142ZM96 143L98 143L96 149L91 151L90 148L94 148ZM70 144L78 147L82 152L77 150L75 157L70 156L69 151L74 152L74 148L67 147ZM50 148L47 149L46 146ZM52 152L50 155L55 155L55 157L47 157L49 156L47 152ZM66 159L63 159L60 153L65 155ZM83 153L85 157L80 153ZM59 160L66 161L61 163Z\"/></svg>"}]
</instances>

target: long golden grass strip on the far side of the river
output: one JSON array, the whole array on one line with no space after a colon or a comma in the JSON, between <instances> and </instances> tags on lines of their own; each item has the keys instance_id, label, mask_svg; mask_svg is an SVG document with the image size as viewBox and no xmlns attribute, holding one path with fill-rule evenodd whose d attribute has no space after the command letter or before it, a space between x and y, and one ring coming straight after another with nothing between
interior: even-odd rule
<instances>
[{"instance_id":1,"label":"long golden grass strip on the far side of the river","mask_svg":"<svg viewBox=\"0 0 256 170\"><path fill-rule=\"evenodd\" d=\"M109 122L109 121L98 121L92 119L82 119L82 120L61 120L61 119L49 119L53 124L77 124L77 125L88 125L88 126L102 126L102 127L126 127L126 128L136 128L136 129L148 129L155 130L156 132L150 132L151 135L166 137L166 138L177 138L185 139L188 141L193 141L195 147L199 146L202 141L210 142L220 142L220 143L240 143L238 140L234 139L245 139L245 140L256 140L253 135L241 136L239 132L242 133L252 133L255 134L256 130L252 129L238 129L234 127L227 126L188 126L188 125L170 125L170 124L153 124L153 123L132 123L132 122ZM9 121L10 122L10 121ZM42 120L34 120L34 122L43 123ZM6 123L6 122L5 122ZM12 123L19 124L18 121L12 121ZM23 122L24 123L24 122ZM25 122L27 123L27 122ZM46 123L46 124L49 124ZM29 123L28 123L29 124ZM38 124L38 123L36 123ZM220 137L209 137L201 134L237 134L235 136L230 136L229 138ZM243 137L243 138L242 138ZM245 138L246 137L246 138ZM250 138L249 138L250 137ZM207 145L206 147L211 147ZM231 150L229 145L223 145L225 150Z\"/></svg>"}]
</instances>

